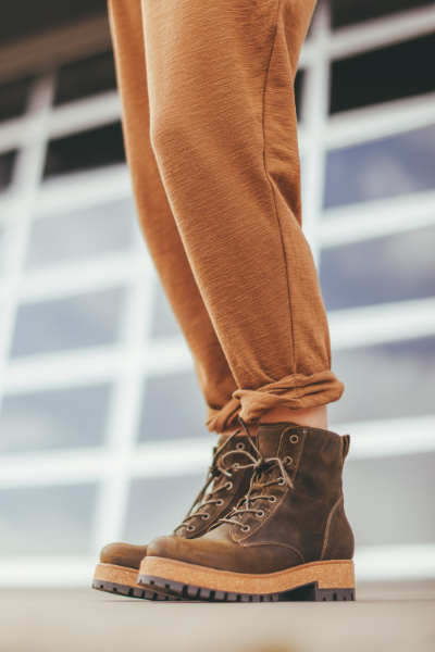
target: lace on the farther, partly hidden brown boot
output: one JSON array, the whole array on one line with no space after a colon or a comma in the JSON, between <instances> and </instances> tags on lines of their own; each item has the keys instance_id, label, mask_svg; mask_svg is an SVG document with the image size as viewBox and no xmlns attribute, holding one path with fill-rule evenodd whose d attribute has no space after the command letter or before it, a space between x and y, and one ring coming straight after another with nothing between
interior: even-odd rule
<instances>
[{"instance_id":1,"label":"lace on the farther, partly hidden brown boot","mask_svg":"<svg viewBox=\"0 0 435 652\"><path fill-rule=\"evenodd\" d=\"M224 491L224 490L229 491L231 489L233 489L233 482L231 480L228 480L224 485L220 484L221 480L224 477L232 478L234 472L238 472L244 468L248 468L248 466L251 466L251 464L249 464L248 466L240 466L237 463L233 463L233 464L225 463L225 459L228 455L234 455L234 454L248 455L251 460L254 461L254 457L246 450L232 449L232 450L227 451L226 453L224 453L221 457L221 453L225 450L225 448L228 447L228 444L233 441L233 439L240 432L241 432L241 430L236 430L235 432L229 435L227 437L227 439L224 441L224 443L214 451L213 463L209 467L206 482L204 482L202 489L200 490L200 492L198 493L197 498L195 499L194 504L191 505L190 510L187 512L183 523L181 525L178 525L177 528L175 528L174 532L176 532L182 527L186 527L189 531L192 531L195 529L195 526L191 525L192 519L203 518L206 521L206 519L210 518L210 514L202 511L203 507L206 505L222 504L223 503L222 499L215 498L215 496L221 491ZM253 444L252 439L249 435L249 431L248 431L248 436L249 436L251 444ZM220 460L220 463L217 463L217 460ZM215 488L208 492L208 489L212 482L214 482ZM222 503L221 503L221 501L222 501Z\"/></svg>"}]
</instances>

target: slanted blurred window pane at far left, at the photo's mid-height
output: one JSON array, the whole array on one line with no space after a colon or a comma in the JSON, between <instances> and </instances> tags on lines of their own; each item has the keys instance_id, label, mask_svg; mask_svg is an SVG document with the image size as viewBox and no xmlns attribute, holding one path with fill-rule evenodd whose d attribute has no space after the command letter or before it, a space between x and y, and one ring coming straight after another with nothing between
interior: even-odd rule
<instances>
[{"instance_id":1,"label":"slanted blurred window pane at far left, at the photo's mid-height","mask_svg":"<svg viewBox=\"0 0 435 652\"><path fill-rule=\"evenodd\" d=\"M112 344L120 331L124 290L21 305L12 358Z\"/></svg>"}]
</instances>

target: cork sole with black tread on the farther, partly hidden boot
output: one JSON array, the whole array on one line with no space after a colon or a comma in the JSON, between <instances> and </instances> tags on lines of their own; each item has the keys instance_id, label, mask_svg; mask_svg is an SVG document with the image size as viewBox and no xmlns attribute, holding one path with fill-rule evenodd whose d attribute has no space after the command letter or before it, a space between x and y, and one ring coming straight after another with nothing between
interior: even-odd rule
<instances>
[{"instance_id":1,"label":"cork sole with black tread on the farther, partly hidden boot","mask_svg":"<svg viewBox=\"0 0 435 652\"><path fill-rule=\"evenodd\" d=\"M137 584L137 568L115 566L114 564L98 564L92 580L92 589L117 593L126 598L139 598L141 600L177 601L179 595L161 587Z\"/></svg>"}]
</instances>

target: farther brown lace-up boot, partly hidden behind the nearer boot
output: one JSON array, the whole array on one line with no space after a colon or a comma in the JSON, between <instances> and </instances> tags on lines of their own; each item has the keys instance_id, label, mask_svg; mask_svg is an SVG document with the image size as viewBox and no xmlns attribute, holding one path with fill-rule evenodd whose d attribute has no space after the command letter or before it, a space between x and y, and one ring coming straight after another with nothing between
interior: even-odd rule
<instances>
[{"instance_id":1,"label":"farther brown lace-up boot, partly hidden behind the nearer boot","mask_svg":"<svg viewBox=\"0 0 435 652\"><path fill-rule=\"evenodd\" d=\"M250 438L240 431L229 437L221 436L217 447L213 450L213 463L206 484L186 518L175 529L175 538L200 537L237 505L249 489L252 467L251 464L246 466L245 461L251 463L256 459L252 453L254 454L254 450ZM164 587L154 587L147 582L137 585L140 562L146 555L147 546L105 546L101 550L92 588L146 600L179 600L176 592Z\"/></svg>"}]
</instances>

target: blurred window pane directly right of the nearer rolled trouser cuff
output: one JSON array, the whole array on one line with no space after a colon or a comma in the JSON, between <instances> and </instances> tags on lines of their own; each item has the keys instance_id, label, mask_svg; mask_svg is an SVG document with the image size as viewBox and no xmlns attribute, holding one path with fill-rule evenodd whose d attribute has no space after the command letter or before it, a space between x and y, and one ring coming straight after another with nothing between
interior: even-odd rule
<instances>
[{"instance_id":1,"label":"blurred window pane directly right of the nearer rolled trouser cuff","mask_svg":"<svg viewBox=\"0 0 435 652\"><path fill-rule=\"evenodd\" d=\"M435 414L435 338L336 351L333 369L346 387L333 424Z\"/></svg>"}]
</instances>

